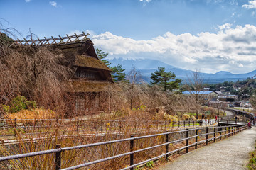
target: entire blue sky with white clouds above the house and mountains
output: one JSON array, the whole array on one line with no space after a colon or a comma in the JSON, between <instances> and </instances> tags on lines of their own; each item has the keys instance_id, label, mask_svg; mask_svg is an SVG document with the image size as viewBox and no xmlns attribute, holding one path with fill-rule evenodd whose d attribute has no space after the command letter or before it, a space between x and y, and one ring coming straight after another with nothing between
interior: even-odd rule
<instances>
[{"instance_id":1,"label":"entire blue sky with white clouds above the house and mountains","mask_svg":"<svg viewBox=\"0 0 256 170\"><path fill-rule=\"evenodd\" d=\"M183 69L256 69L256 0L0 0L2 28L25 38L90 33L108 57ZM20 38L21 38L20 37Z\"/></svg>"}]
</instances>

